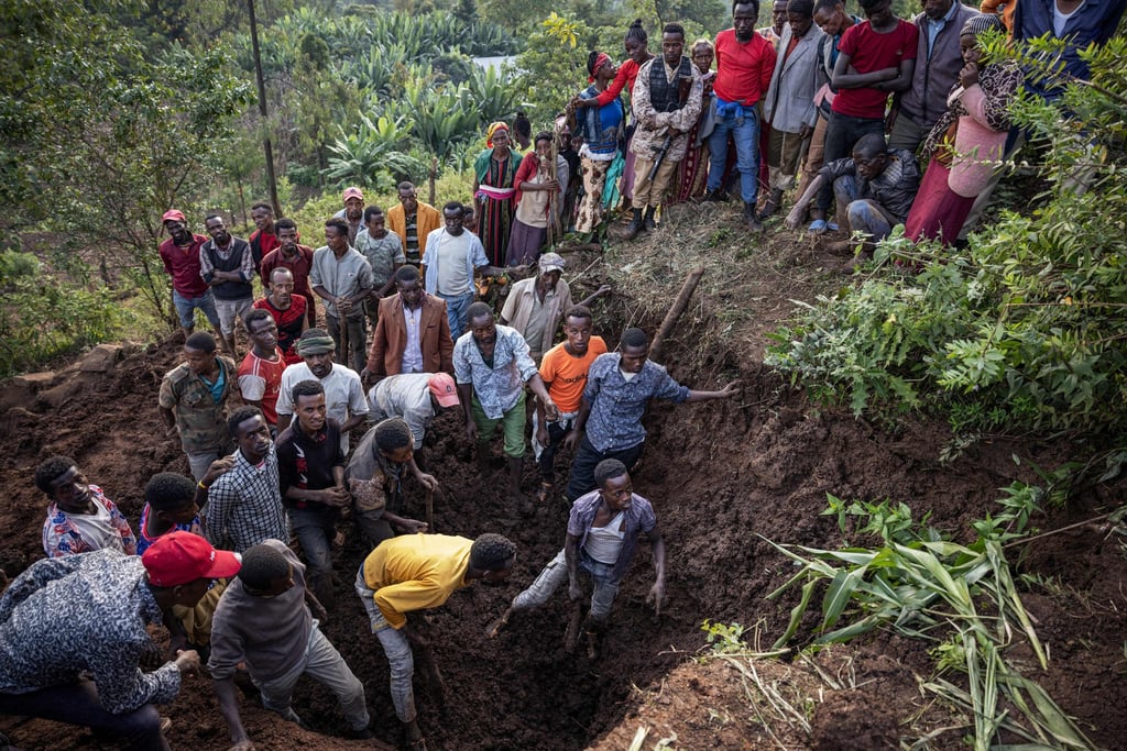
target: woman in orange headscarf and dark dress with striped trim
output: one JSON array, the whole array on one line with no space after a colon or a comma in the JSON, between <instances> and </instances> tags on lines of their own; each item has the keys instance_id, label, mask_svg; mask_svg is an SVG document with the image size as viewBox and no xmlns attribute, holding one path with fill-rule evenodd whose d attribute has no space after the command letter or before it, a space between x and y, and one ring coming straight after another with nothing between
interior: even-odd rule
<instances>
[{"instance_id":1,"label":"woman in orange headscarf and dark dress with striped trim","mask_svg":"<svg viewBox=\"0 0 1127 751\"><path fill-rule=\"evenodd\" d=\"M478 202L478 236L490 266L504 266L513 231L513 181L521 154L509 149L508 126L494 123L486 132L486 149L473 162L473 197Z\"/></svg>"}]
</instances>

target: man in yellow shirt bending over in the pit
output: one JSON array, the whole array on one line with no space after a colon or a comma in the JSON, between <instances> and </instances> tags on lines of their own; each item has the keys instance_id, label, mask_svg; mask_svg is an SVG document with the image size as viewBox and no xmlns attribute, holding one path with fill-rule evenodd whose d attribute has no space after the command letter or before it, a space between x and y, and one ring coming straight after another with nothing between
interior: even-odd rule
<instances>
[{"instance_id":1,"label":"man in yellow shirt bending over in the pit","mask_svg":"<svg viewBox=\"0 0 1127 751\"><path fill-rule=\"evenodd\" d=\"M476 579L503 581L515 562L516 545L500 535L486 534L472 540L418 534L384 540L361 565L356 593L388 655L391 701L409 748L426 748L416 722L410 646L411 642L420 646L425 642L408 624L407 614L438 607Z\"/></svg>"}]
</instances>

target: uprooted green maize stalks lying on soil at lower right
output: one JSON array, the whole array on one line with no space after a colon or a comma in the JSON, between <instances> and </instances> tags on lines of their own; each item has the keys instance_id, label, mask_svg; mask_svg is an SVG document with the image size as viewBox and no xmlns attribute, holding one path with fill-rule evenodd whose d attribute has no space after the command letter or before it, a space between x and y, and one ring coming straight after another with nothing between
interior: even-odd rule
<instances>
[{"instance_id":1,"label":"uprooted green maize stalks lying on soil at lower right","mask_svg":"<svg viewBox=\"0 0 1127 751\"><path fill-rule=\"evenodd\" d=\"M1048 665L1004 552L1006 543L1028 534L1037 497L1023 485L1008 489L1002 511L976 521L976 539L958 545L932 528L913 525L903 504L845 503L831 495L825 513L838 517L843 533L853 519L859 522L857 534L879 535L882 544L825 551L771 543L801 566L769 596L801 585L790 625L773 649L795 637L811 611L815 592L822 590L813 646L846 642L877 628L932 643L935 674L922 687L970 714L976 750L993 748L1002 731L1038 748L1091 748L1045 689L1006 656L1017 641L1029 646L1042 670Z\"/></svg>"}]
</instances>

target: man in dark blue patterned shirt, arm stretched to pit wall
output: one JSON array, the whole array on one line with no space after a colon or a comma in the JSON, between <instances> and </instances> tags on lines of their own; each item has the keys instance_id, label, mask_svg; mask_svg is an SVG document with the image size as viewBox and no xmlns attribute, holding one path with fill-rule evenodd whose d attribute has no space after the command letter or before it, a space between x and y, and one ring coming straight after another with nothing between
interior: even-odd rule
<instances>
[{"instance_id":1,"label":"man in dark blue patterned shirt, arm stretched to pit wall","mask_svg":"<svg viewBox=\"0 0 1127 751\"><path fill-rule=\"evenodd\" d=\"M574 431L583 438L564 493L568 501L595 490L595 465L603 459L618 459L627 471L633 471L646 440L641 415L649 400L667 399L674 404L707 402L728 399L739 391L738 381L721 391L682 386L664 366L648 359L649 340L641 329L623 331L619 350L596 357L587 372Z\"/></svg>"}]
</instances>

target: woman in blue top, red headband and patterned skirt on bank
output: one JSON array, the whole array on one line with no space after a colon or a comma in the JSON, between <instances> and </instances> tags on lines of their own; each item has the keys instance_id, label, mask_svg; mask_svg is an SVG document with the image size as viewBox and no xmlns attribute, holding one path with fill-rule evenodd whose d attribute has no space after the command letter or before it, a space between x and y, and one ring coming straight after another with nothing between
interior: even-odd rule
<instances>
[{"instance_id":1,"label":"woman in blue top, red headband and patterned skirt on bank","mask_svg":"<svg viewBox=\"0 0 1127 751\"><path fill-rule=\"evenodd\" d=\"M614 78L614 63L606 53L592 52L587 56L587 73L591 86L568 105L568 116L575 117L573 133L583 136L579 161L583 167L584 196L575 229L589 241L603 221L603 188L606 187L606 173L611 163L619 153L619 138L625 128L627 111L616 97L597 108L586 105L606 91Z\"/></svg>"}]
</instances>

